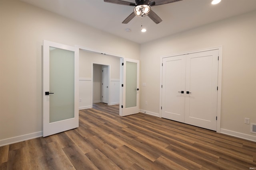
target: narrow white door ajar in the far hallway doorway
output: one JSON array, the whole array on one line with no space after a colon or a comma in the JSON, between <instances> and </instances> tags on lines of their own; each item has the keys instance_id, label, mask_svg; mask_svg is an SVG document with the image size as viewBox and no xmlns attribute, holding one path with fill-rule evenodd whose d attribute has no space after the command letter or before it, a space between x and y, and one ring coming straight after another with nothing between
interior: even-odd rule
<instances>
[{"instance_id":1,"label":"narrow white door ajar in the far hallway doorway","mask_svg":"<svg viewBox=\"0 0 256 170\"><path fill-rule=\"evenodd\" d=\"M108 66L102 66L102 103L108 104Z\"/></svg>"}]
</instances>

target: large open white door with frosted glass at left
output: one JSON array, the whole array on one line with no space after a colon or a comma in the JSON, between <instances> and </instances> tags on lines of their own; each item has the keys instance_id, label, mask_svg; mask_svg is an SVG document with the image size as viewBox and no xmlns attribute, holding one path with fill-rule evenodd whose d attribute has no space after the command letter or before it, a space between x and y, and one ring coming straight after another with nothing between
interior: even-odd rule
<instances>
[{"instance_id":1,"label":"large open white door with frosted glass at left","mask_svg":"<svg viewBox=\"0 0 256 170\"><path fill-rule=\"evenodd\" d=\"M43 136L78 127L78 54L74 47L44 40Z\"/></svg>"}]
</instances>

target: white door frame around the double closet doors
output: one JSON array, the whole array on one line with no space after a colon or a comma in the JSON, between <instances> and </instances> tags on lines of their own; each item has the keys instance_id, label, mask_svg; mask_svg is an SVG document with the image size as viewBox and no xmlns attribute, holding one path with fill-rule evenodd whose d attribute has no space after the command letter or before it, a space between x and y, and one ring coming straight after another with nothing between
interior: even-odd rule
<instances>
[{"instance_id":1,"label":"white door frame around the double closet doors","mask_svg":"<svg viewBox=\"0 0 256 170\"><path fill-rule=\"evenodd\" d=\"M218 57L218 92L217 92L217 127L216 127L216 131L218 133L220 133L220 121L221 121L221 91L222 91L222 46L218 46L218 47L212 47L212 48L206 48L206 49L200 49L200 50L195 50L195 51L188 51L188 52L184 52L184 53L176 53L176 54L172 54L172 55L165 55L160 57L160 85L159 85L159 89L160 89L160 96L159 96L159 117L162 117L162 63L163 63L163 59L167 58L167 57L174 57L174 56L178 56L178 55L186 55L186 54L192 54L192 53L200 53L200 52L204 52L204 51L212 51L212 50L218 50L219 51L219 57Z\"/></svg>"}]
</instances>

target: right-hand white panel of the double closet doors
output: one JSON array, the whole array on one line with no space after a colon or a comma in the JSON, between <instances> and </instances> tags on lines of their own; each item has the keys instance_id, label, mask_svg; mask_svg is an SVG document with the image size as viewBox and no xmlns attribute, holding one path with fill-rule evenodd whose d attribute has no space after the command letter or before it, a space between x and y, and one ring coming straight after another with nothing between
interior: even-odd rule
<instances>
[{"instance_id":1,"label":"right-hand white panel of the double closet doors","mask_svg":"<svg viewBox=\"0 0 256 170\"><path fill-rule=\"evenodd\" d=\"M216 131L218 50L186 56L185 123Z\"/></svg>"}]
</instances>

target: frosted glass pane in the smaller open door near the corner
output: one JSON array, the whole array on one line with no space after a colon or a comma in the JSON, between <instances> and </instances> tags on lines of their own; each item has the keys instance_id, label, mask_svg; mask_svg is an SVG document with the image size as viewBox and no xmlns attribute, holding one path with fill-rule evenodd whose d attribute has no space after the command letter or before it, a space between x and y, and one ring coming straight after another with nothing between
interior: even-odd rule
<instances>
[{"instance_id":1,"label":"frosted glass pane in the smaller open door near the corner","mask_svg":"<svg viewBox=\"0 0 256 170\"><path fill-rule=\"evenodd\" d=\"M137 63L126 61L126 96L125 107L137 104Z\"/></svg>"}]
</instances>

